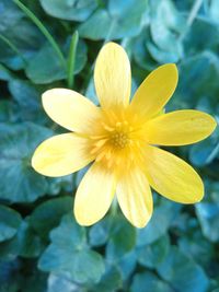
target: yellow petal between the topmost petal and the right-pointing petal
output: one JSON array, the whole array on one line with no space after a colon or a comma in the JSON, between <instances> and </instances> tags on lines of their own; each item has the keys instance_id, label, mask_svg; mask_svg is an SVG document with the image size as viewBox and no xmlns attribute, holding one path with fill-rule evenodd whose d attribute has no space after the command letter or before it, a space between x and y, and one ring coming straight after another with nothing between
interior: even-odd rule
<instances>
[{"instance_id":1,"label":"yellow petal between the topmost petal and the right-pointing petal","mask_svg":"<svg viewBox=\"0 0 219 292\"><path fill-rule=\"evenodd\" d=\"M140 117L157 115L171 98L177 85L177 68L166 63L153 70L138 87L131 101L131 109Z\"/></svg>"}]
</instances>

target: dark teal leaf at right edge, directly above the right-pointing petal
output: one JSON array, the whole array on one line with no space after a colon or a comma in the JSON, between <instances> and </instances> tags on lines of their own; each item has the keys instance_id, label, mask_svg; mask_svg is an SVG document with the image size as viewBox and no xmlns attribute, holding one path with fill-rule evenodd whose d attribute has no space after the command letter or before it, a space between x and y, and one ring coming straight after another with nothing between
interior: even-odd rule
<instances>
[{"instance_id":1,"label":"dark teal leaf at right edge, directly above the right-pointing petal","mask_svg":"<svg viewBox=\"0 0 219 292\"><path fill-rule=\"evenodd\" d=\"M212 113L218 113L219 59L214 52L204 51L184 59L180 66L180 75L176 96L170 104L173 103L177 107L183 104L182 108L194 108L199 100L205 97Z\"/></svg>"}]
</instances>

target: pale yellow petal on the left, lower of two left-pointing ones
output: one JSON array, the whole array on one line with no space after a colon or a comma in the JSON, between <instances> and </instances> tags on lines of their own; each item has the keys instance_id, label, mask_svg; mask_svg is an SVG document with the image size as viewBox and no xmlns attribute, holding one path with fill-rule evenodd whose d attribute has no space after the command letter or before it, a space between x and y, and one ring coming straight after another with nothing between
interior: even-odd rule
<instances>
[{"instance_id":1,"label":"pale yellow petal on the left, lower of two left-pointing ones","mask_svg":"<svg viewBox=\"0 0 219 292\"><path fill-rule=\"evenodd\" d=\"M62 133L38 145L32 166L43 175L56 177L77 172L92 160L87 139L76 133Z\"/></svg>"}]
</instances>

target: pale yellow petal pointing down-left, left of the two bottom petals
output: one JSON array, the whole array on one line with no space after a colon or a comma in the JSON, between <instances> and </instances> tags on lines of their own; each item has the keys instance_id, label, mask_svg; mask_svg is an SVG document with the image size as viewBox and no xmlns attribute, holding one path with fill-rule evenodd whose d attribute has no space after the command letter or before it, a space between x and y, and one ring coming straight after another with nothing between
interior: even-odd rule
<instances>
[{"instance_id":1,"label":"pale yellow petal pointing down-left, left of the two bottom petals","mask_svg":"<svg viewBox=\"0 0 219 292\"><path fill-rule=\"evenodd\" d=\"M115 194L115 178L107 168L94 163L76 194L74 215L81 225L92 225L107 212Z\"/></svg>"}]
</instances>

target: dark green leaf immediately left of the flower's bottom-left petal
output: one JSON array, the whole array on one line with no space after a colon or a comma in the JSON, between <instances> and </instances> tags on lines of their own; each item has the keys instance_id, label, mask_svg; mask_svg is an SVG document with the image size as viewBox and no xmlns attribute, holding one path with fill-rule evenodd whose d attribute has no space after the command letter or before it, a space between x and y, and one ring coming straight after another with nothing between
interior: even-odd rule
<instances>
[{"instance_id":1,"label":"dark green leaf immediately left of the flower's bottom-left petal","mask_svg":"<svg viewBox=\"0 0 219 292\"><path fill-rule=\"evenodd\" d=\"M61 217L72 210L70 197L50 199L37 206L30 217L30 223L37 234L46 240L51 229L56 227Z\"/></svg>"}]
</instances>

